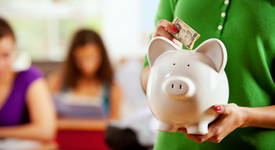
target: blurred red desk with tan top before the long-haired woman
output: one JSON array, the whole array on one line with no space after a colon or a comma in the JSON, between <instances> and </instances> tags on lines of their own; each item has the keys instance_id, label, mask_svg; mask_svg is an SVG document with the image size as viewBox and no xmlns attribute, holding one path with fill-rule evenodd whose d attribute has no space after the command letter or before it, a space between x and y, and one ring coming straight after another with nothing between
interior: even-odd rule
<instances>
[{"instance_id":1,"label":"blurred red desk with tan top before the long-haired woman","mask_svg":"<svg viewBox=\"0 0 275 150\"><path fill-rule=\"evenodd\" d=\"M109 150L104 141L105 120L58 119L59 149Z\"/></svg>"}]
</instances>

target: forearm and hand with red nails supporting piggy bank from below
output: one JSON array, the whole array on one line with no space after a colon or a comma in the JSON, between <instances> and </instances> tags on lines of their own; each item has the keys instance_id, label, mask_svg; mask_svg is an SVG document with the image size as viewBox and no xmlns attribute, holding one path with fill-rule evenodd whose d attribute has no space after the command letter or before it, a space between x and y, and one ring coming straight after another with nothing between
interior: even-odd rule
<instances>
[{"instance_id":1,"label":"forearm and hand with red nails supporting piggy bank from below","mask_svg":"<svg viewBox=\"0 0 275 150\"><path fill-rule=\"evenodd\" d=\"M215 105L213 109L220 114L219 118L208 128L206 135L190 135L183 129L186 137L201 143L210 141L219 143L224 137L237 128L260 127L275 129L275 105L267 107L249 108L236 104Z\"/></svg>"}]
</instances>

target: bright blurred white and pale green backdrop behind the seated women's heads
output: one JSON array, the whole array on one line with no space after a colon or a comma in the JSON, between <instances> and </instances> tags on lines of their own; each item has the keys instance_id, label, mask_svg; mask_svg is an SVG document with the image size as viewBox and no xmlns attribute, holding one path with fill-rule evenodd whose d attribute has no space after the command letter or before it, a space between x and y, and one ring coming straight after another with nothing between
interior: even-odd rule
<instances>
[{"instance_id":1,"label":"bright blurred white and pale green backdrop behind the seated women's heads","mask_svg":"<svg viewBox=\"0 0 275 150\"><path fill-rule=\"evenodd\" d=\"M63 61L78 28L98 32L112 62L146 52L159 0L0 0L0 15L34 61ZM31 43L31 44L30 44Z\"/></svg>"}]
</instances>

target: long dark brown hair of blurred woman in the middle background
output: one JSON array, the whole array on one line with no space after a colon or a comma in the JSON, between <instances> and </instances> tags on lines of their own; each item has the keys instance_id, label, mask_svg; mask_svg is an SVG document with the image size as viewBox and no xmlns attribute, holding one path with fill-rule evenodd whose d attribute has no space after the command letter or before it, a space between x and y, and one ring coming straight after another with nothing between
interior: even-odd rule
<instances>
[{"instance_id":1,"label":"long dark brown hair of blurred woman in the middle background","mask_svg":"<svg viewBox=\"0 0 275 150\"><path fill-rule=\"evenodd\" d=\"M113 70L107 55L106 48L100 36L91 30L81 29L75 33L69 47L69 52L64 63L63 84L71 88L75 88L77 79L79 79L81 71L76 66L74 52L87 44L96 44L100 49L102 61L96 72L96 79L102 83L111 84L113 80Z\"/></svg>"}]
</instances>

